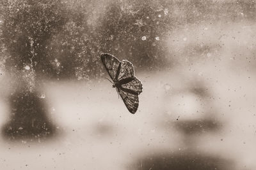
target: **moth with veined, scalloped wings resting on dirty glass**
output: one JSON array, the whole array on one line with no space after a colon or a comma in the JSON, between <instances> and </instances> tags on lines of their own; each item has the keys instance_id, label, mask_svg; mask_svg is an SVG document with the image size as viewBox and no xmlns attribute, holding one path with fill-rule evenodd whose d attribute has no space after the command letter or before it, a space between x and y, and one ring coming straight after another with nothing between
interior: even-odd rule
<instances>
[{"instance_id":1,"label":"moth with veined, scalloped wings resting on dirty glass","mask_svg":"<svg viewBox=\"0 0 256 170\"><path fill-rule=\"evenodd\" d=\"M102 53L100 59L113 80L112 87L121 96L126 108L136 113L139 106L138 95L142 92L141 81L134 76L134 67L128 60L118 60L109 53Z\"/></svg>"}]
</instances>

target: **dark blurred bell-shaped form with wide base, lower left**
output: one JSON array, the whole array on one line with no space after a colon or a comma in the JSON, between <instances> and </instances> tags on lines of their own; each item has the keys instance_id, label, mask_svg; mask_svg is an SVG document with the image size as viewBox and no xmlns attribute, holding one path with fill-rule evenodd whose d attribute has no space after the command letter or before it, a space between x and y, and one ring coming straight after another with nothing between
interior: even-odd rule
<instances>
[{"instance_id":1,"label":"dark blurred bell-shaped form with wide base, lower left","mask_svg":"<svg viewBox=\"0 0 256 170\"><path fill-rule=\"evenodd\" d=\"M29 139L38 141L47 139L56 132L49 118L44 99L38 97L35 92L29 90L18 90L10 97L11 116L2 128L6 139L17 141Z\"/></svg>"}]
</instances>

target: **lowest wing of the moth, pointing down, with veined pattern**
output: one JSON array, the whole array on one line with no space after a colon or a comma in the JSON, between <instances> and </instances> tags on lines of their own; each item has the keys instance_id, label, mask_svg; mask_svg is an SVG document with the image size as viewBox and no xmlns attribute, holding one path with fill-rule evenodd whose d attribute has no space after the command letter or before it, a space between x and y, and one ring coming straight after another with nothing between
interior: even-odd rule
<instances>
[{"instance_id":1,"label":"lowest wing of the moth, pointing down, with veined pattern","mask_svg":"<svg viewBox=\"0 0 256 170\"><path fill-rule=\"evenodd\" d=\"M130 113L134 114L138 110L139 107L139 97L138 94L131 94L129 92L125 92L124 90L118 89L118 92L124 101L126 108L130 111Z\"/></svg>"}]
</instances>

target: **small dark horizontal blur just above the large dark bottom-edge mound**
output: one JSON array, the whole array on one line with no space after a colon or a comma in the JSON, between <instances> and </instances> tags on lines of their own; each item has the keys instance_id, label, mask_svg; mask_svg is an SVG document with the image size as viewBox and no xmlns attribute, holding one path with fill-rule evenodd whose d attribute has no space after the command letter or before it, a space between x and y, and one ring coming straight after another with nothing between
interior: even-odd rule
<instances>
[{"instance_id":1,"label":"small dark horizontal blur just above the large dark bottom-edge mound","mask_svg":"<svg viewBox=\"0 0 256 170\"><path fill-rule=\"evenodd\" d=\"M198 132L218 131L220 123L214 120L179 120L175 122L175 127L186 134Z\"/></svg>"}]
</instances>

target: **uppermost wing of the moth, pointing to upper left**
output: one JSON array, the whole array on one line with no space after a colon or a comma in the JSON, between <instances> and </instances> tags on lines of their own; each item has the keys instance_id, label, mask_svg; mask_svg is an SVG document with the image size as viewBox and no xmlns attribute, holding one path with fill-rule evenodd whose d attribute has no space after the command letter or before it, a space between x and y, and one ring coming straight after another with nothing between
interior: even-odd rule
<instances>
[{"instance_id":1,"label":"uppermost wing of the moth, pointing to upper left","mask_svg":"<svg viewBox=\"0 0 256 170\"><path fill-rule=\"evenodd\" d=\"M116 59L111 54L108 53L102 53L100 55L100 59L102 60L102 63L106 70L108 71L108 74L110 78L115 81L120 73L121 69L121 62L120 60Z\"/></svg>"}]
</instances>

